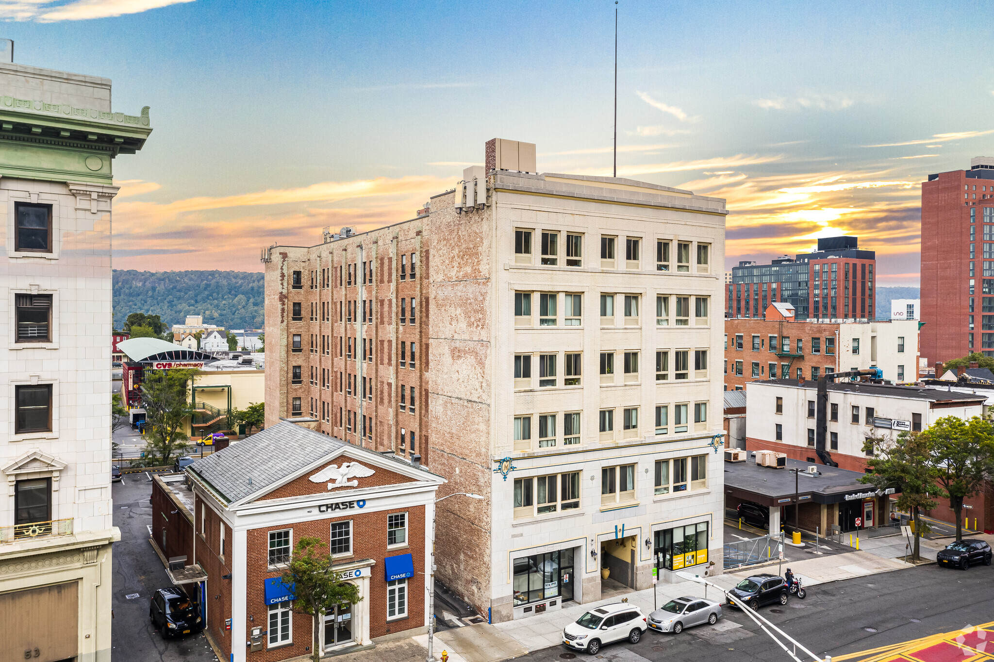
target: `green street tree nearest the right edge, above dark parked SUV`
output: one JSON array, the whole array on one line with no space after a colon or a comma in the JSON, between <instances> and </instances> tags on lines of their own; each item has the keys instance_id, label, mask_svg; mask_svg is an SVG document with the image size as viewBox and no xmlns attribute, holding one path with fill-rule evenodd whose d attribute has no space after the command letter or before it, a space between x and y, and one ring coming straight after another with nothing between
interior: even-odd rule
<instances>
[{"instance_id":1,"label":"green street tree nearest the right edge, above dark parked SUV","mask_svg":"<svg viewBox=\"0 0 994 662\"><path fill-rule=\"evenodd\" d=\"M994 426L980 416L943 416L921 431L929 444L928 465L956 516L956 540L963 539L963 499L983 489L994 472Z\"/></svg>"}]
</instances>

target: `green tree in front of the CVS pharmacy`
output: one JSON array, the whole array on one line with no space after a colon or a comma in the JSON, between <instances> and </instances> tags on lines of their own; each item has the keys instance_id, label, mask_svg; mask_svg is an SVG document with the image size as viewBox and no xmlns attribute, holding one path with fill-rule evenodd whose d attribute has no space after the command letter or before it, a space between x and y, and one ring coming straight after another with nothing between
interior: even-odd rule
<instances>
[{"instance_id":1,"label":"green tree in front of the CVS pharmacy","mask_svg":"<svg viewBox=\"0 0 994 662\"><path fill-rule=\"evenodd\" d=\"M141 384L141 400L145 408L145 457L161 464L179 455L187 447L189 435L184 430L186 419L193 414L187 402L187 385L196 370L145 371Z\"/></svg>"}]
</instances>

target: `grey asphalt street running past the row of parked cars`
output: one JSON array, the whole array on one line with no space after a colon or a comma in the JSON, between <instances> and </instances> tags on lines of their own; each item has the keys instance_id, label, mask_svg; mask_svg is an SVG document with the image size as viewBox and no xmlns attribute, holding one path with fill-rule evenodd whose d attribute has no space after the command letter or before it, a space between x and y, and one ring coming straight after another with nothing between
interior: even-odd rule
<instances>
[{"instance_id":1,"label":"grey asphalt street running past the row of parked cars","mask_svg":"<svg viewBox=\"0 0 994 662\"><path fill-rule=\"evenodd\" d=\"M994 566L967 572L922 566L812 586L806 599L760 613L818 655L841 655L994 621ZM869 628L869 629L868 629ZM870 631L874 630L874 631ZM554 646L521 659L610 662L790 662L742 612L681 634L646 632L637 644L609 644L596 657ZM802 656L803 659L803 656Z\"/></svg>"}]
</instances>

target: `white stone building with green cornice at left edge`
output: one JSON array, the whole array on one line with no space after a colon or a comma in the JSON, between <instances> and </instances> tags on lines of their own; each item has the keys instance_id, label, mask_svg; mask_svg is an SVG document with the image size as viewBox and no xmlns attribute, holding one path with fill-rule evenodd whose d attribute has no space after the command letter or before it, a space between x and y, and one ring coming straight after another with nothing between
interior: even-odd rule
<instances>
[{"instance_id":1,"label":"white stone building with green cornice at left edge","mask_svg":"<svg viewBox=\"0 0 994 662\"><path fill-rule=\"evenodd\" d=\"M0 64L4 653L110 660L111 163L148 108L110 81Z\"/></svg>"}]
</instances>

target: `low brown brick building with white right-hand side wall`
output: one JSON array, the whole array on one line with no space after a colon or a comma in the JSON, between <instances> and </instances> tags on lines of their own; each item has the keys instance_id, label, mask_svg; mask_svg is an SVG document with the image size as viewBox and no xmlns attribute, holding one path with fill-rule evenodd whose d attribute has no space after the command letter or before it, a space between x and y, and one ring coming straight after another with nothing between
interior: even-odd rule
<instances>
[{"instance_id":1,"label":"low brown brick building with white right-hand side wall","mask_svg":"<svg viewBox=\"0 0 994 662\"><path fill-rule=\"evenodd\" d=\"M913 320L799 321L793 307L770 303L762 319L725 320L725 390L767 379L816 380L825 373L876 367L896 383L917 380Z\"/></svg>"}]
</instances>

